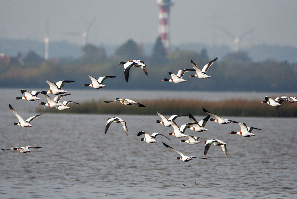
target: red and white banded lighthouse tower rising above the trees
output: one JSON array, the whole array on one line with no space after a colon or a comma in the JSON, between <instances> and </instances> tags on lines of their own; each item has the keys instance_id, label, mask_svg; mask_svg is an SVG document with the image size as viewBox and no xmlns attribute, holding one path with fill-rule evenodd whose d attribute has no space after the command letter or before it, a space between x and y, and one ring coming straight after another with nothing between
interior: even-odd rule
<instances>
[{"instance_id":1,"label":"red and white banded lighthouse tower rising above the trees","mask_svg":"<svg viewBox=\"0 0 297 199\"><path fill-rule=\"evenodd\" d=\"M158 35L165 47L165 52L169 52L169 9L173 3L170 0L157 0L159 5L159 27Z\"/></svg>"}]
</instances>

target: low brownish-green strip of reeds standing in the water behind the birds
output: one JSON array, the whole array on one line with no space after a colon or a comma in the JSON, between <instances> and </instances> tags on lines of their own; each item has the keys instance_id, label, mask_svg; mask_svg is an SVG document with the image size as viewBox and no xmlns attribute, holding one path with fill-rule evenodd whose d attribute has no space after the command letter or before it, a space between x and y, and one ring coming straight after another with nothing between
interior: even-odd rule
<instances>
[{"instance_id":1,"label":"low brownish-green strip of reeds standing in the water behind the birds","mask_svg":"<svg viewBox=\"0 0 297 199\"><path fill-rule=\"evenodd\" d=\"M137 100L136 100L137 101ZM155 115L157 111L165 115L189 114L206 115L202 107L219 116L253 116L253 117L297 117L297 103L284 101L282 106L276 107L263 104L258 99L230 99L223 101L187 100L187 99L159 99L140 100L146 107L123 105L120 102L105 103L102 99L84 101L80 105L70 104L69 110L55 108L37 108L37 112L51 113L85 113L85 114L135 114Z\"/></svg>"}]
</instances>

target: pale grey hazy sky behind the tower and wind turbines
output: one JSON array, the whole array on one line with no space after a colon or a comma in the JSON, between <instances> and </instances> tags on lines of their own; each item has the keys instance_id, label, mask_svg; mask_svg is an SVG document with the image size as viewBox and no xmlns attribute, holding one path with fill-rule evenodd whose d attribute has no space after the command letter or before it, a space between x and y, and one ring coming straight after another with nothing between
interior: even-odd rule
<instances>
[{"instance_id":1,"label":"pale grey hazy sky behind the tower and wind turbines","mask_svg":"<svg viewBox=\"0 0 297 199\"><path fill-rule=\"evenodd\" d=\"M239 48L257 44L297 47L297 1L172 0L170 41L174 45L199 42L227 44L254 28ZM50 42L81 44L81 34L97 15L88 42L122 44L132 38L138 43L154 43L157 38L159 8L155 0L27 0L0 1L0 38L44 40L48 18Z\"/></svg>"}]
</instances>

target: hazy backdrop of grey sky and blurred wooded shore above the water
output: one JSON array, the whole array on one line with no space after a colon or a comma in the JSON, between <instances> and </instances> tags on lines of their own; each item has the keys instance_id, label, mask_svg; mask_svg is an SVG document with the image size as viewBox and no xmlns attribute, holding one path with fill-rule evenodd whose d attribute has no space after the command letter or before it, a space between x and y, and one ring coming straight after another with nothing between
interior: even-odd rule
<instances>
[{"instance_id":1,"label":"hazy backdrop of grey sky and blurred wooded shore above the water","mask_svg":"<svg viewBox=\"0 0 297 199\"><path fill-rule=\"evenodd\" d=\"M68 88L82 89L88 75L110 75L117 76L106 81L113 89L297 91L297 1L172 2L166 54L155 0L0 1L0 87L47 88L46 80L67 79L77 82ZM231 35L241 37L237 52ZM216 57L207 80L161 81L192 68L191 59L202 68ZM123 84L118 63L131 59L145 61L149 76L134 69Z\"/></svg>"}]
</instances>

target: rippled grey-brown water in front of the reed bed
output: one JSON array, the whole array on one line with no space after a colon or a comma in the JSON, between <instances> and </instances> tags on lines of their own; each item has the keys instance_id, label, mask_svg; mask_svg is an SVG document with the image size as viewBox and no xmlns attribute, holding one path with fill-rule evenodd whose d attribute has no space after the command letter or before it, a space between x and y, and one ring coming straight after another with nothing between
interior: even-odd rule
<instances>
[{"instance_id":1,"label":"rippled grey-brown water in front of the reed bed","mask_svg":"<svg viewBox=\"0 0 297 199\"><path fill-rule=\"evenodd\" d=\"M220 125L209 121L205 126L209 130L200 133L188 129L186 133L190 135L223 140L227 143L228 159L220 146L213 145L206 155L211 158L182 162L176 160L178 154L163 146L162 141L185 155L198 157L204 157L204 144L179 143L184 138L172 136L168 136L170 140L157 136L159 142L149 144L139 141L144 136L136 136L139 131L166 136L173 132L172 127L154 123L160 119L157 114L117 115L127 122L129 136L117 123L111 124L104 134L106 119L115 115L45 113L31 122L33 127L23 128L12 126L17 118L7 103L27 119L35 114L27 109L34 109L39 102L13 101L9 94L15 99L21 96L17 93L20 91L5 91L3 95L1 89L0 147L43 148L26 154L0 151L1 199L104 195L109 198L297 198L296 118L228 117L262 129L253 130L256 136L250 138L229 134L240 130L235 123ZM75 93L71 93L74 98ZM88 98L91 94L84 96ZM108 99L113 98L112 93L108 94ZM23 104L26 108L21 107ZM18 111L19 108L22 110ZM204 116L195 118L200 120ZM187 117L176 119L179 126L188 121Z\"/></svg>"}]
</instances>

